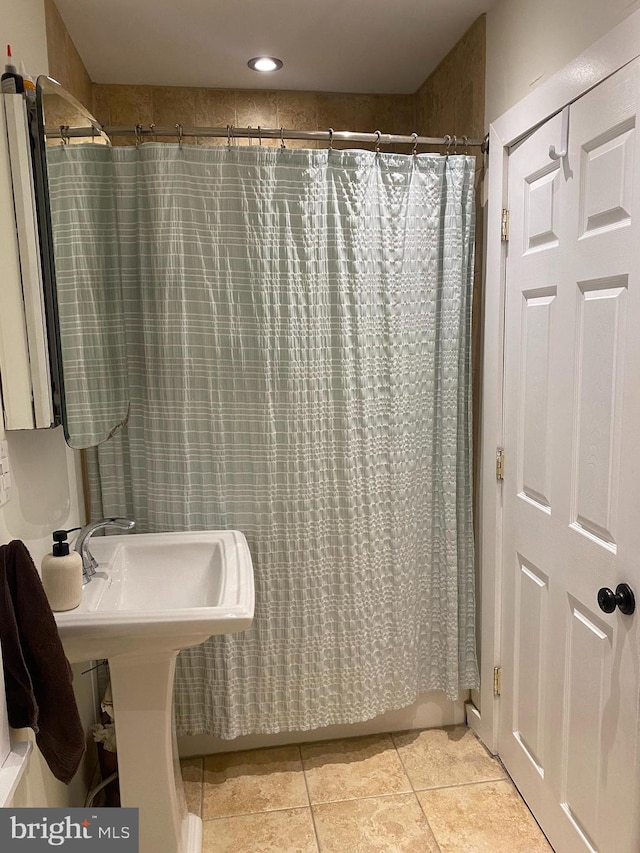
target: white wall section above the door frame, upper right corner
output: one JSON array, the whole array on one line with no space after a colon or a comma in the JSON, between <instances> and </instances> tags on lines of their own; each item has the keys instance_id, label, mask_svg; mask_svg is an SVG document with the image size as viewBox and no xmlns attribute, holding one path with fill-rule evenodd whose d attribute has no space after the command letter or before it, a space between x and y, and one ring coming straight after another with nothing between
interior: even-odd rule
<instances>
[{"instance_id":1,"label":"white wall section above the door frame, upper right corner","mask_svg":"<svg viewBox=\"0 0 640 853\"><path fill-rule=\"evenodd\" d=\"M486 126L640 8L640 0L500 0L487 12Z\"/></svg>"}]
</instances>

